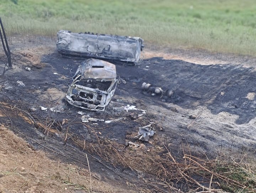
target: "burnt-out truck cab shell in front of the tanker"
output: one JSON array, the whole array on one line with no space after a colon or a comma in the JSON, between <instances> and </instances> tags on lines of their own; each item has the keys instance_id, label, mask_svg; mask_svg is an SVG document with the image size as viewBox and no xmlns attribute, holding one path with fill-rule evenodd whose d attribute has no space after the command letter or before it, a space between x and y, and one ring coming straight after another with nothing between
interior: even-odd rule
<instances>
[{"instance_id":1,"label":"burnt-out truck cab shell in front of the tanker","mask_svg":"<svg viewBox=\"0 0 256 193\"><path fill-rule=\"evenodd\" d=\"M117 86L116 66L99 59L79 65L66 93L66 101L82 109L104 111Z\"/></svg>"}]
</instances>

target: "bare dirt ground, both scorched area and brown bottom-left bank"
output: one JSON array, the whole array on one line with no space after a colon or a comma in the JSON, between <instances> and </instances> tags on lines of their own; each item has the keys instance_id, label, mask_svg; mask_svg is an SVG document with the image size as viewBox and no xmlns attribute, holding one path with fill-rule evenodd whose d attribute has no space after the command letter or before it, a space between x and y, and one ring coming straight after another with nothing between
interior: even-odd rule
<instances>
[{"instance_id":1,"label":"bare dirt ground, both scorched area and brown bottom-left bank","mask_svg":"<svg viewBox=\"0 0 256 193\"><path fill-rule=\"evenodd\" d=\"M228 156L230 149L255 156L255 58L151 46L139 65L116 64L120 84L111 103L105 112L89 112L64 100L82 60L61 57L54 41L10 41L14 69L6 72L0 95L0 192L158 192L143 183L152 177L143 169L106 163L95 154L100 148L92 145L104 140L142 161L166 153L163 146L178 159L184 144L202 157ZM0 56L4 63L4 52ZM143 82L174 95L151 96ZM79 111L99 120L82 123ZM49 126L50 119L59 124ZM151 122L156 134L150 141L134 140L138 127ZM140 147L127 148L128 141Z\"/></svg>"}]
</instances>

